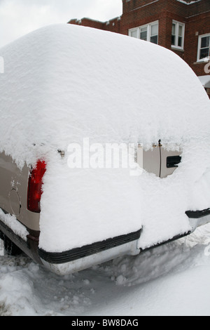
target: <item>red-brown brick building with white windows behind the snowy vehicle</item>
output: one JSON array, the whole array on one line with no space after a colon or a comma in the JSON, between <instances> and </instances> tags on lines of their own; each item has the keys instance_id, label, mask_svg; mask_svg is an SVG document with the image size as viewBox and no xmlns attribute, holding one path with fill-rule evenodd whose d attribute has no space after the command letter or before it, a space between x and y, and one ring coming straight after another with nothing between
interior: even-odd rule
<instances>
[{"instance_id":1,"label":"red-brown brick building with white windows behind the snowy vehicle","mask_svg":"<svg viewBox=\"0 0 210 330\"><path fill-rule=\"evenodd\" d=\"M126 34L174 51L200 77L210 97L210 0L122 1L118 18L73 19L69 24Z\"/></svg>"}]
</instances>

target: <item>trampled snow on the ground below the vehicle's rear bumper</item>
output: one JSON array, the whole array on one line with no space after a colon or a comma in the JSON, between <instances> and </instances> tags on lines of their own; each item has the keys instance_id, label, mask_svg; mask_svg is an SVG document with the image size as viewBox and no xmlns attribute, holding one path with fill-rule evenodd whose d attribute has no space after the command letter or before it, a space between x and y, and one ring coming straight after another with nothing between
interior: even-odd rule
<instances>
[{"instance_id":1,"label":"trampled snow on the ground below the vehicle's rear bumper","mask_svg":"<svg viewBox=\"0 0 210 330\"><path fill-rule=\"evenodd\" d=\"M0 315L210 315L210 224L193 235L59 277L0 257ZM2 245L0 249L2 254Z\"/></svg>"}]
</instances>

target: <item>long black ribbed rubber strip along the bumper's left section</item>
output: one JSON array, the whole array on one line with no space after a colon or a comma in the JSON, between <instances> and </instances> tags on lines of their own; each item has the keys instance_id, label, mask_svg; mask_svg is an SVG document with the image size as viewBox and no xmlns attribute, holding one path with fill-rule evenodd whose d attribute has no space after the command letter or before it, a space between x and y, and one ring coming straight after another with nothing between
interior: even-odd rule
<instances>
[{"instance_id":1,"label":"long black ribbed rubber strip along the bumper's left section","mask_svg":"<svg viewBox=\"0 0 210 330\"><path fill-rule=\"evenodd\" d=\"M90 245L82 246L80 248L72 249L69 251L64 251L60 253L47 252L43 249L38 249L38 255L41 259L48 263L60 264L69 263L73 260L78 260L87 256L92 256L95 253L99 253L105 250L113 249L116 246L127 244L139 239L141 235L141 230L137 232L131 232L127 235L122 235L118 237L113 237L111 239L106 239L102 242L96 242Z\"/></svg>"}]
</instances>

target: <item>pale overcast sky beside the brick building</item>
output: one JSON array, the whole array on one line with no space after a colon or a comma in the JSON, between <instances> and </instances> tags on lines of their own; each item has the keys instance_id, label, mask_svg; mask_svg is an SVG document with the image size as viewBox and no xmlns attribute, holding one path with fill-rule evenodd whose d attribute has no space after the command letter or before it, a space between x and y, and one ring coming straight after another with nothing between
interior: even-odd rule
<instances>
[{"instance_id":1,"label":"pale overcast sky beside the brick building","mask_svg":"<svg viewBox=\"0 0 210 330\"><path fill-rule=\"evenodd\" d=\"M122 0L0 0L0 47L44 25L83 17L105 22L122 11Z\"/></svg>"}]
</instances>

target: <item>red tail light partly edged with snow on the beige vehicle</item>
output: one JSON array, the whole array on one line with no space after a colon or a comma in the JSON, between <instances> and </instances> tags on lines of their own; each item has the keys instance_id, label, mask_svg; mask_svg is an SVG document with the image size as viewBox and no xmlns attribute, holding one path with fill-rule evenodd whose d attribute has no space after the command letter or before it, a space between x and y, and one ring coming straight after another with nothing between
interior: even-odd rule
<instances>
[{"instance_id":1,"label":"red tail light partly edged with snow on the beige vehicle","mask_svg":"<svg viewBox=\"0 0 210 330\"><path fill-rule=\"evenodd\" d=\"M37 161L36 168L30 171L28 182L27 209L32 212L40 212L40 200L42 194L43 175L46 171L45 161Z\"/></svg>"}]
</instances>

